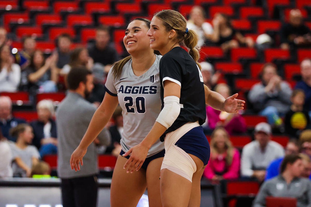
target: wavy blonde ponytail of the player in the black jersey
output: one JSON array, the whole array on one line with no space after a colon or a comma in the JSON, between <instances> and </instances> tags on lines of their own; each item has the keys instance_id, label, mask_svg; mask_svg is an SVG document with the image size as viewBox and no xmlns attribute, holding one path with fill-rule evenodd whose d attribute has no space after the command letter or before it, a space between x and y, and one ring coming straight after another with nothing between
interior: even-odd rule
<instances>
[{"instance_id":1,"label":"wavy blonde ponytail of the player in the black jersey","mask_svg":"<svg viewBox=\"0 0 311 207\"><path fill-rule=\"evenodd\" d=\"M183 43L186 47L189 48L189 55L193 58L194 61L196 61L197 65L199 66L201 70L201 65L198 63L198 60L200 59L200 53L199 49L200 47L197 46L198 42L198 35L195 31L192 29L188 30L187 34L185 35L185 38L183 40Z\"/></svg>"}]
</instances>

